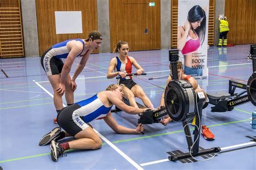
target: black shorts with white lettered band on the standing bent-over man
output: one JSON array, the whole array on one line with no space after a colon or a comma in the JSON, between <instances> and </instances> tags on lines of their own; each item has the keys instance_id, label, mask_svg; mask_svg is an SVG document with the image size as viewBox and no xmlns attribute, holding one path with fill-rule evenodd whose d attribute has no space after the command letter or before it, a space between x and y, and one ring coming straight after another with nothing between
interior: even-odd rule
<instances>
[{"instance_id":1,"label":"black shorts with white lettered band on the standing bent-over man","mask_svg":"<svg viewBox=\"0 0 256 170\"><path fill-rule=\"evenodd\" d=\"M47 76L60 74L64 65L61 59L51 55L51 52L49 52L51 49L50 47L50 49L46 50L41 57L41 65Z\"/></svg>"}]
</instances>

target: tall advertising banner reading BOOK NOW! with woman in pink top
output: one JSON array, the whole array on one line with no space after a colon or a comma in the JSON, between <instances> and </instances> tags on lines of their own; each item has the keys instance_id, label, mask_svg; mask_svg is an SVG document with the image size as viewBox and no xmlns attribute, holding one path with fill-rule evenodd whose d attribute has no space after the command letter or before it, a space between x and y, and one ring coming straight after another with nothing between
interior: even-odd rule
<instances>
[{"instance_id":1,"label":"tall advertising banner reading BOOK NOW! with woman in pink top","mask_svg":"<svg viewBox=\"0 0 256 170\"><path fill-rule=\"evenodd\" d=\"M183 56L185 74L207 76L209 0L178 1L179 55Z\"/></svg>"}]
</instances>

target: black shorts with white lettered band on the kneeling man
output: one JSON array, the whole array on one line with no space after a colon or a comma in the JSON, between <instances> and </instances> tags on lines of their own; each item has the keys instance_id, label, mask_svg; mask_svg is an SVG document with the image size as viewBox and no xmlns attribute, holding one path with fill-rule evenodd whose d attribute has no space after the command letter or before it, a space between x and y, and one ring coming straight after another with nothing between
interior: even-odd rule
<instances>
[{"instance_id":1,"label":"black shorts with white lettered band on the kneeling man","mask_svg":"<svg viewBox=\"0 0 256 170\"><path fill-rule=\"evenodd\" d=\"M78 104L72 104L70 106L64 107L57 115L57 123L59 126L73 137L77 133L89 127L89 125L84 122L82 117L74 112L80 107L81 106Z\"/></svg>"}]
</instances>

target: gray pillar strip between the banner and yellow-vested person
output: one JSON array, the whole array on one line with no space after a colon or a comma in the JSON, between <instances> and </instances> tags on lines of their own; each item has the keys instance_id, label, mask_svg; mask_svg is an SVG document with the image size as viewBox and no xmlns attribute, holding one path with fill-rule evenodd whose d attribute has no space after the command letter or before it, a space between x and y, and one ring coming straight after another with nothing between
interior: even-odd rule
<instances>
[{"instance_id":1,"label":"gray pillar strip between the banner and yellow-vested person","mask_svg":"<svg viewBox=\"0 0 256 170\"><path fill-rule=\"evenodd\" d=\"M214 45L219 43L219 15L225 13L225 0L215 0Z\"/></svg>"}]
</instances>

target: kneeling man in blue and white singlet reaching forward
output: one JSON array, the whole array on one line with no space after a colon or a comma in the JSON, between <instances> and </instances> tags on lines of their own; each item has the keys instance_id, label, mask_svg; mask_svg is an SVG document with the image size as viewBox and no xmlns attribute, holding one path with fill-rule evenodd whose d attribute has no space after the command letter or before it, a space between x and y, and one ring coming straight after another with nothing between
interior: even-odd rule
<instances>
[{"instance_id":1,"label":"kneeling man in blue and white singlet reaching forward","mask_svg":"<svg viewBox=\"0 0 256 170\"><path fill-rule=\"evenodd\" d=\"M139 114L147 108L135 108L126 105L123 101L122 87L119 85L110 85L106 91L99 92L95 96L79 101L73 105L63 108L57 117L60 127L65 132L60 131L60 127L54 128L50 133L44 135L39 141L39 145L50 145L51 158L57 161L59 155L63 155L67 149L98 149L102 146L102 140L87 123L93 120L104 119L113 131L126 134L140 134L144 131L142 124L136 129L126 128L118 125L110 112L111 107L116 105L129 114ZM73 136L76 140L59 144L57 140L64 137Z\"/></svg>"}]
</instances>

